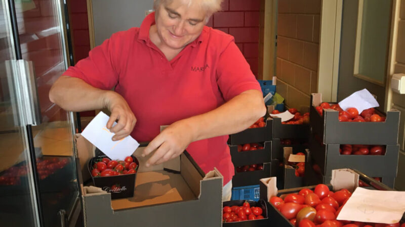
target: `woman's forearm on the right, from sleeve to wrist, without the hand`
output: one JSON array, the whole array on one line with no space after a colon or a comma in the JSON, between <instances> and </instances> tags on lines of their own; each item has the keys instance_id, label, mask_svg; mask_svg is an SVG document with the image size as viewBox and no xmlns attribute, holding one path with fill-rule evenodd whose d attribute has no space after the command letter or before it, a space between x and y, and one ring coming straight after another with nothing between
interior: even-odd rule
<instances>
[{"instance_id":1,"label":"woman's forearm on the right, from sleeve to wrist, without the hand","mask_svg":"<svg viewBox=\"0 0 405 227\"><path fill-rule=\"evenodd\" d=\"M262 93L248 90L212 111L184 121L192 130L193 141L197 141L245 130L265 113Z\"/></svg>"}]
</instances>

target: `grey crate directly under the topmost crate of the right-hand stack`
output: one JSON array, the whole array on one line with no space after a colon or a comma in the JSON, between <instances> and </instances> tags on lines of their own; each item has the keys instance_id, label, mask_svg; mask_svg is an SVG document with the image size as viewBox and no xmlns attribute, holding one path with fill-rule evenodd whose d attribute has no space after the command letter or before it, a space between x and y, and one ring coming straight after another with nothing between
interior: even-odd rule
<instances>
[{"instance_id":1,"label":"grey crate directly under the topmost crate of the right-hand stack","mask_svg":"<svg viewBox=\"0 0 405 227\"><path fill-rule=\"evenodd\" d=\"M355 143L358 144L358 143ZM386 145L385 155L342 155L340 144L320 144L310 138L309 150L321 173L331 176L332 169L354 168L373 177L395 177L398 167L399 145Z\"/></svg>"}]
</instances>

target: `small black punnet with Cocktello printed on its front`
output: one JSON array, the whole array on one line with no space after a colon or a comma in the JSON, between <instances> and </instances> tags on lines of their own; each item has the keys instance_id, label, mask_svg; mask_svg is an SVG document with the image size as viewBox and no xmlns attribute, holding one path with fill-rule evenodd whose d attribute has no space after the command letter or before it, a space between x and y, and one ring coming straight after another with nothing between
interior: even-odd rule
<instances>
[{"instance_id":1,"label":"small black punnet with Cocktello printed on its front","mask_svg":"<svg viewBox=\"0 0 405 227\"><path fill-rule=\"evenodd\" d=\"M89 172L92 172L92 166L95 162L101 161L103 157L107 156L98 156L93 157L90 159L88 163ZM134 162L137 163L137 169L139 167L138 159L131 155L134 159ZM136 169L136 170L137 170ZM125 174L125 175L117 175L117 176L109 176L109 177L93 177L92 180L94 186L101 188L102 190L111 193L111 199L120 199L120 198L128 198L134 196L135 190L135 174Z\"/></svg>"}]
</instances>

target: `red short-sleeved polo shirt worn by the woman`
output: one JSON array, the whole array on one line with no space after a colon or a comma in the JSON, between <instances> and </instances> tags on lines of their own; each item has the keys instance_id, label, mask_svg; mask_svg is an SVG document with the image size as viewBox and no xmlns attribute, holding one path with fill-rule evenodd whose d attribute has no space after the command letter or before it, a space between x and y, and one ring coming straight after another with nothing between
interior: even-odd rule
<instances>
[{"instance_id":1,"label":"red short-sleeved polo shirt worn by the woman","mask_svg":"<svg viewBox=\"0 0 405 227\"><path fill-rule=\"evenodd\" d=\"M140 28L113 34L64 73L100 89L115 86L137 119L131 133L137 141L151 141L160 126L213 110L243 91L261 90L232 36L205 26L168 61L149 39L153 24L152 13ZM227 139L219 136L187 147L204 172L217 167L224 184L234 175Z\"/></svg>"}]
</instances>

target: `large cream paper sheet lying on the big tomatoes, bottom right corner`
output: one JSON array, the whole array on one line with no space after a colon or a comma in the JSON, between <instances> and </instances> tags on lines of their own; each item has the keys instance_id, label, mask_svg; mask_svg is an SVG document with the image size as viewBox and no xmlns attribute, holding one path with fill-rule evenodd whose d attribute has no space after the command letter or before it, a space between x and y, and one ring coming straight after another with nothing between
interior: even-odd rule
<instances>
[{"instance_id":1,"label":"large cream paper sheet lying on the big tomatoes, bottom right corner","mask_svg":"<svg viewBox=\"0 0 405 227\"><path fill-rule=\"evenodd\" d=\"M405 211L405 192L356 188L337 219L392 224Z\"/></svg>"}]
</instances>

